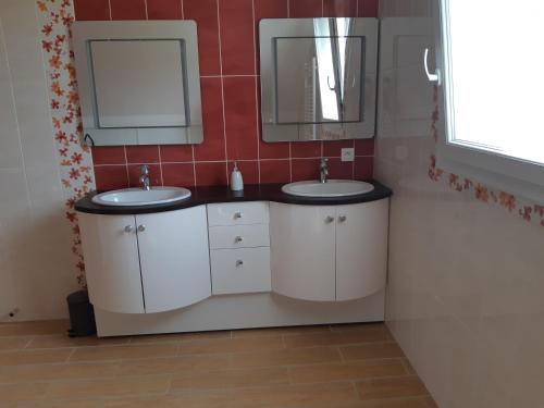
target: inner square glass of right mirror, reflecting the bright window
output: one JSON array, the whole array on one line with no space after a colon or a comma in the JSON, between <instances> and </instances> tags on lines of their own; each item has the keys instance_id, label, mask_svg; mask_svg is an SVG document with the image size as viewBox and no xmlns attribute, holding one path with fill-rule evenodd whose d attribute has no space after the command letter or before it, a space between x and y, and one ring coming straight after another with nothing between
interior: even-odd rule
<instances>
[{"instance_id":1,"label":"inner square glass of right mirror, reflecting the bright window","mask_svg":"<svg viewBox=\"0 0 544 408\"><path fill-rule=\"evenodd\" d=\"M349 65L333 58L341 45L354 55ZM277 123L361 120L362 38L277 38L275 49Z\"/></svg>"}]
</instances>

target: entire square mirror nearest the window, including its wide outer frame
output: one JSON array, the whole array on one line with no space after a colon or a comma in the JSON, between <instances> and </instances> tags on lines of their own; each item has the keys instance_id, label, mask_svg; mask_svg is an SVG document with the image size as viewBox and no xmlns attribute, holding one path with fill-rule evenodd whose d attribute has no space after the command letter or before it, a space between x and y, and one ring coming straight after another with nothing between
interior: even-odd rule
<instances>
[{"instance_id":1,"label":"entire square mirror nearest the window, including its wide outer frame","mask_svg":"<svg viewBox=\"0 0 544 408\"><path fill-rule=\"evenodd\" d=\"M260 23L263 139L374 134L375 18Z\"/></svg>"}]
</instances>

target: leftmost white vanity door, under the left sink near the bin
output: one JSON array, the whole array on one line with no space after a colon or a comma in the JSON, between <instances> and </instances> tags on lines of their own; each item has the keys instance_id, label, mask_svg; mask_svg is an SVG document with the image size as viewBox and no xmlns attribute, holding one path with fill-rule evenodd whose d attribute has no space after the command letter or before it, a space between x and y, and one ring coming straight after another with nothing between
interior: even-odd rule
<instances>
[{"instance_id":1,"label":"leftmost white vanity door, under the left sink near the bin","mask_svg":"<svg viewBox=\"0 0 544 408\"><path fill-rule=\"evenodd\" d=\"M144 313L134 215L78 213L90 302L118 313Z\"/></svg>"}]
</instances>

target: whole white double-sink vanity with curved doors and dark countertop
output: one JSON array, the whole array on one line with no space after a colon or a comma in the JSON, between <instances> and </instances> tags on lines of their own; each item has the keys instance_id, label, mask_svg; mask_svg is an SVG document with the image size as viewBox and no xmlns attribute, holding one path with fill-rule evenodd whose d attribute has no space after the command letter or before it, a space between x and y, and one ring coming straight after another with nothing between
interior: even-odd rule
<instances>
[{"instance_id":1,"label":"whole white double-sink vanity with curved doors and dark countertop","mask_svg":"<svg viewBox=\"0 0 544 408\"><path fill-rule=\"evenodd\" d=\"M99 335L381 321L390 196L333 180L89 195Z\"/></svg>"}]
</instances>

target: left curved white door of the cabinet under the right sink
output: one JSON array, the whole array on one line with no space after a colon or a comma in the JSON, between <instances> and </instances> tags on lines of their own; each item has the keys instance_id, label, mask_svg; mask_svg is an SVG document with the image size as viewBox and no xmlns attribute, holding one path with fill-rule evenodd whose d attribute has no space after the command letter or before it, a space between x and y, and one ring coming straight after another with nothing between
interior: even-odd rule
<instances>
[{"instance_id":1,"label":"left curved white door of the cabinet under the right sink","mask_svg":"<svg viewBox=\"0 0 544 408\"><path fill-rule=\"evenodd\" d=\"M334 207L270 203L272 290L335 300Z\"/></svg>"}]
</instances>

